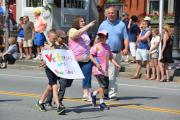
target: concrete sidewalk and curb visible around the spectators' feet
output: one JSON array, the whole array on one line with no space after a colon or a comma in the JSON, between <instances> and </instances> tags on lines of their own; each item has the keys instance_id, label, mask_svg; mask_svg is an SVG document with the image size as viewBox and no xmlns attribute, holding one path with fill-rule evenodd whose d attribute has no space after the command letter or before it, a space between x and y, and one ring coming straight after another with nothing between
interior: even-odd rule
<instances>
[{"instance_id":1,"label":"concrete sidewalk and curb visible around the spectators' feet","mask_svg":"<svg viewBox=\"0 0 180 120\"><path fill-rule=\"evenodd\" d=\"M39 61L34 61L34 60L17 60L14 65L8 65L10 68L19 68L19 69L41 69L43 70L42 67L40 66ZM131 78L133 74L136 71L136 64L133 63L121 63L122 69L119 72L119 76L121 77L127 77ZM175 82L180 82L180 69L175 69L173 66L169 67L169 72L171 79ZM146 74L146 69L145 67L142 67L141 69L141 79L145 79L145 74Z\"/></svg>"}]
</instances>

